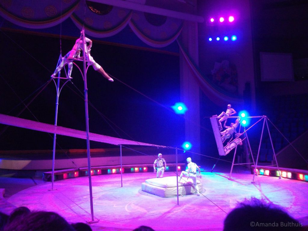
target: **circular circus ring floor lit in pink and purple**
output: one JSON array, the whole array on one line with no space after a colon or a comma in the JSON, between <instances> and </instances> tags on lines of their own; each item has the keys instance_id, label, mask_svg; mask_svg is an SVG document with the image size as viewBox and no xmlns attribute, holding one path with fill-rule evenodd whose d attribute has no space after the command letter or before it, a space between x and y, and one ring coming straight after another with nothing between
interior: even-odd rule
<instances>
[{"instance_id":1,"label":"circular circus ring floor lit in pink and purple","mask_svg":"<svg viewBox=\"0 0 308 231\"><path fill-rule=\"evenodd\" d=\"M187 195L162 198L141 191L141 183L153 178L153 172L124 173L121 188L120 174L92 176L94 217L98 223L93 230L133 230L147 225L156 231L163 230L222 230L223 221L244 198L264 198L284 207L291 216L308 225L308 183L277 177L234 173L202 173L205 189L201 196ZM175 176L165 172L164 176ZM91 220L87 177L51 182L22 190L7 202L26 206L31 210L59 213L69 222Z\"/></svg>"}]
</instances>

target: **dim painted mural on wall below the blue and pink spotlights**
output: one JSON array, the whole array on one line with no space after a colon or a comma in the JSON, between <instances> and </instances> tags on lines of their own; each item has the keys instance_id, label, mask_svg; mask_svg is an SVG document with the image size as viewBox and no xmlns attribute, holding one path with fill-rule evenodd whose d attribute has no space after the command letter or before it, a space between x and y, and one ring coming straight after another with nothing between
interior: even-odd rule
<instances>
[{"instance_id":1,"label":"dim painted mural on wall below the blue and pink spotlights","mask_svg":"<svg viewBox=\"0 0 308 231\"><path fill-rule=\"evenodd\" d=\"M221 89L238 95L237 69L234 63L223 60L221 63L215 62L211 75L212 82Z\"/></svg>"}]
</instances>

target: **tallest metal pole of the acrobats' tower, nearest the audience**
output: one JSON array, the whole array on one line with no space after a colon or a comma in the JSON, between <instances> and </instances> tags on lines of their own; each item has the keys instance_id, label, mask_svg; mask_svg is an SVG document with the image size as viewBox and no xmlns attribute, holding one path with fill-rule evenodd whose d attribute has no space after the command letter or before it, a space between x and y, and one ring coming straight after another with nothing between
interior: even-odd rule
<instances>
[{"instance_id":1,"label":"tallest metal pole of the acrobats' tower, nearest the audience","mask_svg":"<svg viewBox=\"0 0 308 231\"><path fill-rule=\"evenodd\" d=\"M86 56L87 43L84 35L84 28L82 29L83 41L83 79L84 79L84 104L86 113L86 133L87 133L87 157L88 157L88 176L89 176L89 189L90 189L90 205L91 205L91 219L94 221L93 212L93 197L92 197L92 181L91 181L91 156L90 156L90 139L89 139L89 111L88 111L88 88L87 88L87 69L86 69ZM87 57L88 59L88 57Z\"/></svg>"}]
</instances>

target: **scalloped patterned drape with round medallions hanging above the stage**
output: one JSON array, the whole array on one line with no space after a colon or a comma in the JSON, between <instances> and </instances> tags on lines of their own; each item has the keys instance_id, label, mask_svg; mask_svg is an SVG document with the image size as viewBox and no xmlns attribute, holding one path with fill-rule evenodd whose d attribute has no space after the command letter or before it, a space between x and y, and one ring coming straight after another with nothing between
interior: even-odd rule
<instances>
[{"instance_id":1,"label":"scalloped patterned drape with round medallions hanging above the stage","mask_svg":"<svg viewBox=\"0 0 308 231\"><path fill-rule=\"evenodd\" d=\"M113 36L127 25L144 43L165 47L180 34L182 20L85 0L0 0L0 15L30 29L56 26L67 18L96 38Z\"/></svg>"}]
</instances>

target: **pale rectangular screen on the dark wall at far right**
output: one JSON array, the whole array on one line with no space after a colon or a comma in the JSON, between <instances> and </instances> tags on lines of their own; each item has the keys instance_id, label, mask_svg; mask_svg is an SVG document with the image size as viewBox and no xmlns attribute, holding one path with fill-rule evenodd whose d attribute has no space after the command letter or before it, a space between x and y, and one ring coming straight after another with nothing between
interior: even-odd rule
<instances>
[{"instance_id":1,"label":"pale rectangular screen on the dark wall at far right","mask_svg":"<svg viewBox=\"0 0 308 231\"><path fill-rule=\"evenodd\" d=\"M260 52L261 81L294 81L292 54Z\"/></svg>"}]
</instances>

